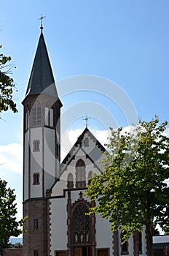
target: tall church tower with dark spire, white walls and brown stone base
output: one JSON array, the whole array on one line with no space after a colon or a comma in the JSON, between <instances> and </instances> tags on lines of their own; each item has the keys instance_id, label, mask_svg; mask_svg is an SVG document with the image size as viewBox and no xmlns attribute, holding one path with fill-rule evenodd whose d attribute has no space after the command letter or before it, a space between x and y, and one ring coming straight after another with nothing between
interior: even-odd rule
<instances>
[{"instance_id":1,"label":"tall church tower with dark spire, white walls and brown stone base","mask_svg":"<svg viewBox=\"0 0 169 256\"><path fill-rule=\"evenodd\" d=\"M41 27L41 29L43 29ZM60 108L52 67L41 32L23 100L24 256L47 255L47 189L60 170Z\"/></svg>"}]
</instances>

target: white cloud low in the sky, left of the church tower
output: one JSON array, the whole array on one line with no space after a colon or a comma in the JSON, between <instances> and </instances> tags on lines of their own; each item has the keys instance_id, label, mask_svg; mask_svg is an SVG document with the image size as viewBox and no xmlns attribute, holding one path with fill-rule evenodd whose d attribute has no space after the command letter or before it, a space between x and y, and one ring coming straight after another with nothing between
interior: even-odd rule
<instances>
[{"instance_id":1,"label":"white cloud low in the sky, left of the church tower","mask_svg":"<svg viewBox=\"0 0 169 256\"><path fill-rule=\"evenodd\" d=\"M3 170L11 170L23 173L23 146L19 143L11 143L0 146L0 165Z\"/></svg>"}]
</instances>

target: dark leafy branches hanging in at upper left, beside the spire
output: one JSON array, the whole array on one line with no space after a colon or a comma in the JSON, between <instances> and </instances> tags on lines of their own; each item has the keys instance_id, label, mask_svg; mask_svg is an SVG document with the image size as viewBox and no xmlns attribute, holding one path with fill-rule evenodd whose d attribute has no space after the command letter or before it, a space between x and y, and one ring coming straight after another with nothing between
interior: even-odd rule
<instances>
[{"instance_id":1,"label":"dark leafy branches hanging in at upper left, beside the spire","mask_svg":"<svg viewBox=\"0 0 169 256\"><path fill-rule=\"evenodd\" d=\"M13 79L9 77L12 68L12 66L8 64L9 61L11 61L11 57L4 56L2 53L0 54L0 113L9 109L14 113L17 112L16 104L12 99L15 83Z\"/></svg>"}]
</instances>

